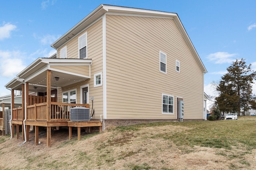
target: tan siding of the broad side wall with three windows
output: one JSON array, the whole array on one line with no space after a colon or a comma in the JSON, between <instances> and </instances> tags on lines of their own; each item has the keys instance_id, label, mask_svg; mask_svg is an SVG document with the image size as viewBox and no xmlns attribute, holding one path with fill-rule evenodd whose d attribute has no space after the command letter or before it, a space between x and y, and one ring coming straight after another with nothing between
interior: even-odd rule
<instances>
[{"instance_id":1,"label":"tan siding of the broad side wall with three windows","mask_svg":"<svg viewBox=\"0 0 256 170\"><path fill-rule=\"evenodd\" d=\"M176 97L184 119L202 119L203 73L174 20L107 15L106 42L108 119L176 119ZM174 96L174 115L162 114L162 94Z\"/></svg>"}]
</instances>

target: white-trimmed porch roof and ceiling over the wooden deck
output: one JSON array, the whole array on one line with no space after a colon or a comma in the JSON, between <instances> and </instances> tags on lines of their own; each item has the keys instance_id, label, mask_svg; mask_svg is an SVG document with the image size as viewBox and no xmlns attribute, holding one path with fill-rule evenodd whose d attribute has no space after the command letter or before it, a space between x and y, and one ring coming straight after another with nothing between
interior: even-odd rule
<instances>
[{"instance_id":1,"label":"white-trimmed porch roof and ceiling over the wooden deck","mask_svg":"<svg viewBox=\"0 0 256 170\"><path fill-rule=\"evenodd\" d=\"M38 58L8 84L7 88L22 90L22 84L29 83L29 91L44 91L47 85L47 70L51 70L51 87L64 87L90 78L91 59ZM55 77L59 79L56 80ZM36 90L34 86L38 86Z\"/></svg>"}]
</instances>

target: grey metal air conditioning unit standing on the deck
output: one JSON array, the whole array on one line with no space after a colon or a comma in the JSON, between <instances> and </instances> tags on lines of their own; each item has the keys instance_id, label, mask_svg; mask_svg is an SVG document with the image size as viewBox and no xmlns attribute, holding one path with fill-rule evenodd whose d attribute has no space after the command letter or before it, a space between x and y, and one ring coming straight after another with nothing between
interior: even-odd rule
<instances>
[{"instance_id":1,"label":"grey metal air conditioning unit standing on the deck","mask_svg":"<svg viewBox=\"0 0 256 170\"><path fill-rule=\"evenodd\" d=\"M74 107L70 109L70 121L89 121L90 109L86 107Z\"/></svg>"}]
</instances>

